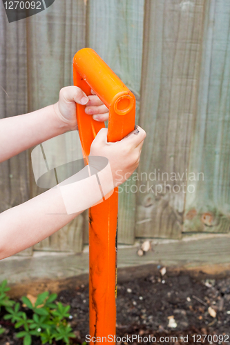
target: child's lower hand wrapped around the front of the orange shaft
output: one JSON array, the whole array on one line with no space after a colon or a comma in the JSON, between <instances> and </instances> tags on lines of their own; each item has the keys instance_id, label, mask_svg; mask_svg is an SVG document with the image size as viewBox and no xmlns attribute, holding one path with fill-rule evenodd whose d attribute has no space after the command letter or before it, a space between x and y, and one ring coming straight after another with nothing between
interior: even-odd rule
<instances>
[{"instance_id":1,"label":"child's lower hand wrapped around the front of the orange shaft","mask_svg":"<svg viewBox=\"0 0 230 345\"><path fill-rule=\"evenodd\" d=\"M97 133L90 148L90 156L108 158L116 187L126 181L139 165L146 132L137 126L127 137L116 143L108 143L107 132L107 128L102 128Z\"/></svg>"}]
</instances>

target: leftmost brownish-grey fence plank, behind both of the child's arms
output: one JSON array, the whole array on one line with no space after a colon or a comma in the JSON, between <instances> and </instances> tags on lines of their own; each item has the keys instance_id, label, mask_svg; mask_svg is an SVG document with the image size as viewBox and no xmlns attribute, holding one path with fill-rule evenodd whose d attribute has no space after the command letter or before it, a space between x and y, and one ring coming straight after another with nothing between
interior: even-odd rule
<instances>
[{"instance_id":1,"label":"leftmost brownish-grey fence plank, behind both of the child's arms","mask_svg":"<svg viewBox=\"0 0 230 345\"><path fill-rule=\"evenodd\" d=\"M8 23L3 6L0 6L0 42L0 118L3 118L27 112L26 23ZM28 181L28 151L0 164L0 212L29 199ZM31 248L21 252L31 254Z\"/></svg>"}]
</instances>

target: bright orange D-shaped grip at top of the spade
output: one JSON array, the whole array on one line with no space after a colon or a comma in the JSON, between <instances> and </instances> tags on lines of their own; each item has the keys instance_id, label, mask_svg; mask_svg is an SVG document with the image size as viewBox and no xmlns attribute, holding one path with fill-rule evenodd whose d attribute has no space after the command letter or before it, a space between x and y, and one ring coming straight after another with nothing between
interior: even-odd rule
<instances>
[{"instance_id":1,"label":"bright orange D-shaped grip at top of the spade","mask_svg":"<svg viewBox=\"0 0 230 345\"><path fill-rule=\"evenodd\" d=\"M123 139L135 127L135 97L115 75L113 70L90 48L79 50L73 59L73 81L86 95L93 89L109 109L108 141ZM85 106L77 104L77 124L82 149L86 156L97 132L105 125L93 120L84 112Z\"/></svg>"}]
</instances>

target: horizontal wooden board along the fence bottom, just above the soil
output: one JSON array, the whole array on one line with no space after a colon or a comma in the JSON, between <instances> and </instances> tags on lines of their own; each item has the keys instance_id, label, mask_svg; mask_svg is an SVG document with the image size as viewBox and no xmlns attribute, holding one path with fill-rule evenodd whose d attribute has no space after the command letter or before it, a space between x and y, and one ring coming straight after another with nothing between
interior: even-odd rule
<instances>
[{"instance_id":1,"label":"horizontal wooden board along the fence bottom, just above the soil","mask_svg":"<svg viewBox=\"0 0 230 345\"><path fill-rule=\"evenodd\" d=\"M132 267L133 277L137 266L160 264L167 271L179 267L211 272L215 265L225 266L229 270L229 235L192 240L162 240L153 245L153 250L139 257L137 247L118 248L118 268ZM153 270L148 270L148 275ZM159 271L158 271L159 272ZM88 273L88 253L70 255L67 253L35 253L32 258L10 257L0 262L1 279L8 279L9 284L36 282L37 279L65 279ZM218 273L218 272L215 272ZM28 279L29 277L29 279ZM131 279L129 277L128 279ZM39 284L37 284L39 287Z\"/></svg>"}]
</instances>

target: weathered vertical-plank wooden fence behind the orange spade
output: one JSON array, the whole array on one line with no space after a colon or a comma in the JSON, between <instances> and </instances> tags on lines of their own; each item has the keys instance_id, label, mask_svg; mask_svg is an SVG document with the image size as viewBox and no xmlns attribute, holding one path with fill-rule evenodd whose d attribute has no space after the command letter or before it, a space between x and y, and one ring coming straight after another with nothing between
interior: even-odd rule
<instances>
[{"instance_id":1,"label":"weathered vertical-plank wooden fence behind the orange spade","mask_svg":"<svg viewBox=\"0 0 230 345\"><path fill-rule=\"evenodd\" d=\"M119 197L120 244L229 232L230 0L55 0L14 23L1 3L0 27L1 117L56 102L84 47L135 94L147 137ZM1 211L42 191L30 152L0 164ZM85 212L23 254L80 253L87 237Z\"/></svg>"}]
</instances>

